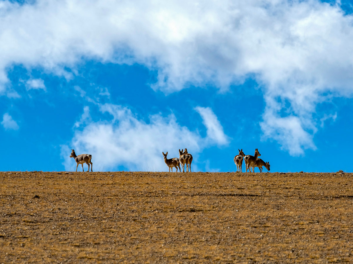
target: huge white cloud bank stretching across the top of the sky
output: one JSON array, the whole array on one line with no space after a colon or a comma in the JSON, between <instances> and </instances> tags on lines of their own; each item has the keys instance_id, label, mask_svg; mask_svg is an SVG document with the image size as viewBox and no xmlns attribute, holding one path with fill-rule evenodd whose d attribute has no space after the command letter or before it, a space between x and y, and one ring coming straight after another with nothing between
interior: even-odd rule
<instances>
[{"instance_id":1,"label":"huge white cloud bank stretching across the top of the sky","mask_svg":"<svg viewBox=\"0 0 353 264\"><path fill-rule=\"evenodd\" d=\"M10 96L12 64L70 79L75 71L64 66L82 58L144 64L166 93L189 84L226 90L251 74L263 87L265 138L287 135L280 143L297 155L315 148L312 114L323 94L352 96L352 22L339 2L314 0L1 1L0 93ZM286 130L291 121L298 129Z\"/></svg>"}]
</instances>

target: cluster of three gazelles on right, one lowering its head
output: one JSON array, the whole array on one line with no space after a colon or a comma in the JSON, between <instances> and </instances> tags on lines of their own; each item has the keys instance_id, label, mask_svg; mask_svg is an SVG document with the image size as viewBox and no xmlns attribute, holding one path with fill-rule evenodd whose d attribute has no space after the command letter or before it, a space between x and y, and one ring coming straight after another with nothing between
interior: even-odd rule
<instances>
[{"instance_id":1,"label":"cluster of three gazelles on right, one lowering its head","mask_svg":"<svg viewBox=\"0 0 353 264\"><path fill-rule=\"evenodd\" d=\"M262 159L258 158L259 156L261 156L258 149L255 149L254 156L251 156L251 155L245 156L243 149L241 150L238 149L238 150L239 150L239 155L234 157L234 163L235 165L237 165L237 171L243 172L243 170L241 169L241 165L243 164L243 157L244 157L245 168L246 168L245 172L247 172L248 169L249 169L249 172L251 172L251 168L252 168L252 172L254 172L255 167L258 167L260 172L262 172L262 166L265 166L267 170L270 170L270 163L264 162Z\"/></svg>"}]
</instances>

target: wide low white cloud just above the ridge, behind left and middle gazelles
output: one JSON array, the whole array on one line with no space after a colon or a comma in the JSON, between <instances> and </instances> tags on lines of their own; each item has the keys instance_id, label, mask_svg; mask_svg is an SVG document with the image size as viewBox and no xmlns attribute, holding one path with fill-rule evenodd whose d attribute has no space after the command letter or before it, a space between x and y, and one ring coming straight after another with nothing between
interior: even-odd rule
<instances>
[{"instance_id":1,"label":"wide low white cloud just above the ridge, behind left and middle gazelles","mask_svg":"<svg viewBox=\"0 0 353 264\"><path fill-rule=\"evenodd\" d=\"M102 113L108 113L112 119L106 121L91 121L82 130L76 130L71 148L90 153L96 170L109 170L117 165L123 165L131 170L165 171L162 151L168 151L168 158L179 157L179 149L187 147L188 151L197 157L204 148L219 144L221 136L207 133L205 138L198 132L190 131L181 126L173 114L162 116L151 115L149 122L139 120L127 107L110 103L100 104ZM210 108L205 108L217 120ZM76 124L88 119L88 108L84 109L83 117ZM209 114L210 114L209 113ZM213 120L214 121L214 120ZM217 125L220 125L219 122ZM206 126L209 129L209 125ZM222 130L220 127L219 129ZM227 137L223 134L223 137ZM224 144L224 142L221 140ZM67 150L62 148L62 158L65 169L73 167L68 158ZM197 165L193 164L193 170Z\"/></svg>"}]
</instances>

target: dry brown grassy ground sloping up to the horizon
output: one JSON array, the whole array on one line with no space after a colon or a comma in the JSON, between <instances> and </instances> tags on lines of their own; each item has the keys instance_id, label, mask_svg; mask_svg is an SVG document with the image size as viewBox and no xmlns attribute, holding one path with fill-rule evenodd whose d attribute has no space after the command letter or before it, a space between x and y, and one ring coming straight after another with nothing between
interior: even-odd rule
<instances>
[{"instance_id":1,"label":"dry brown grassy ground sloping up to the horizon","mask_svg":"<svg viewBox=\"0 0 353 264\"><path fill-rule=\"evenodd\" d=\"M353 174L9 173L0 263L353 263Z\"/></svg>"}]
</instances>

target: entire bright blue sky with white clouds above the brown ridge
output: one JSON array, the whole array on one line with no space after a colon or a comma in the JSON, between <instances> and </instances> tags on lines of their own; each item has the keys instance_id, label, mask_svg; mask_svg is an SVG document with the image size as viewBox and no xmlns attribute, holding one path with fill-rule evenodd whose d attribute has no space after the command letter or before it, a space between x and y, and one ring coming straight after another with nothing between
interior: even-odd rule
<instances>
[{"instance_id":1,"label":"entire bright blue sky with white clouds above the brown ridge","mask_svg":"<svg viewBox=\"0 0 353 264\"><path fill-rule=\"evenodd\" d=\"M350 1L0 1L2 171L351 171ZM85 169L87 169L85 167ZM243 165L245 171L245 165ZM258 169L256 169L257 171Z\"/></svg>"}]
</instances>

